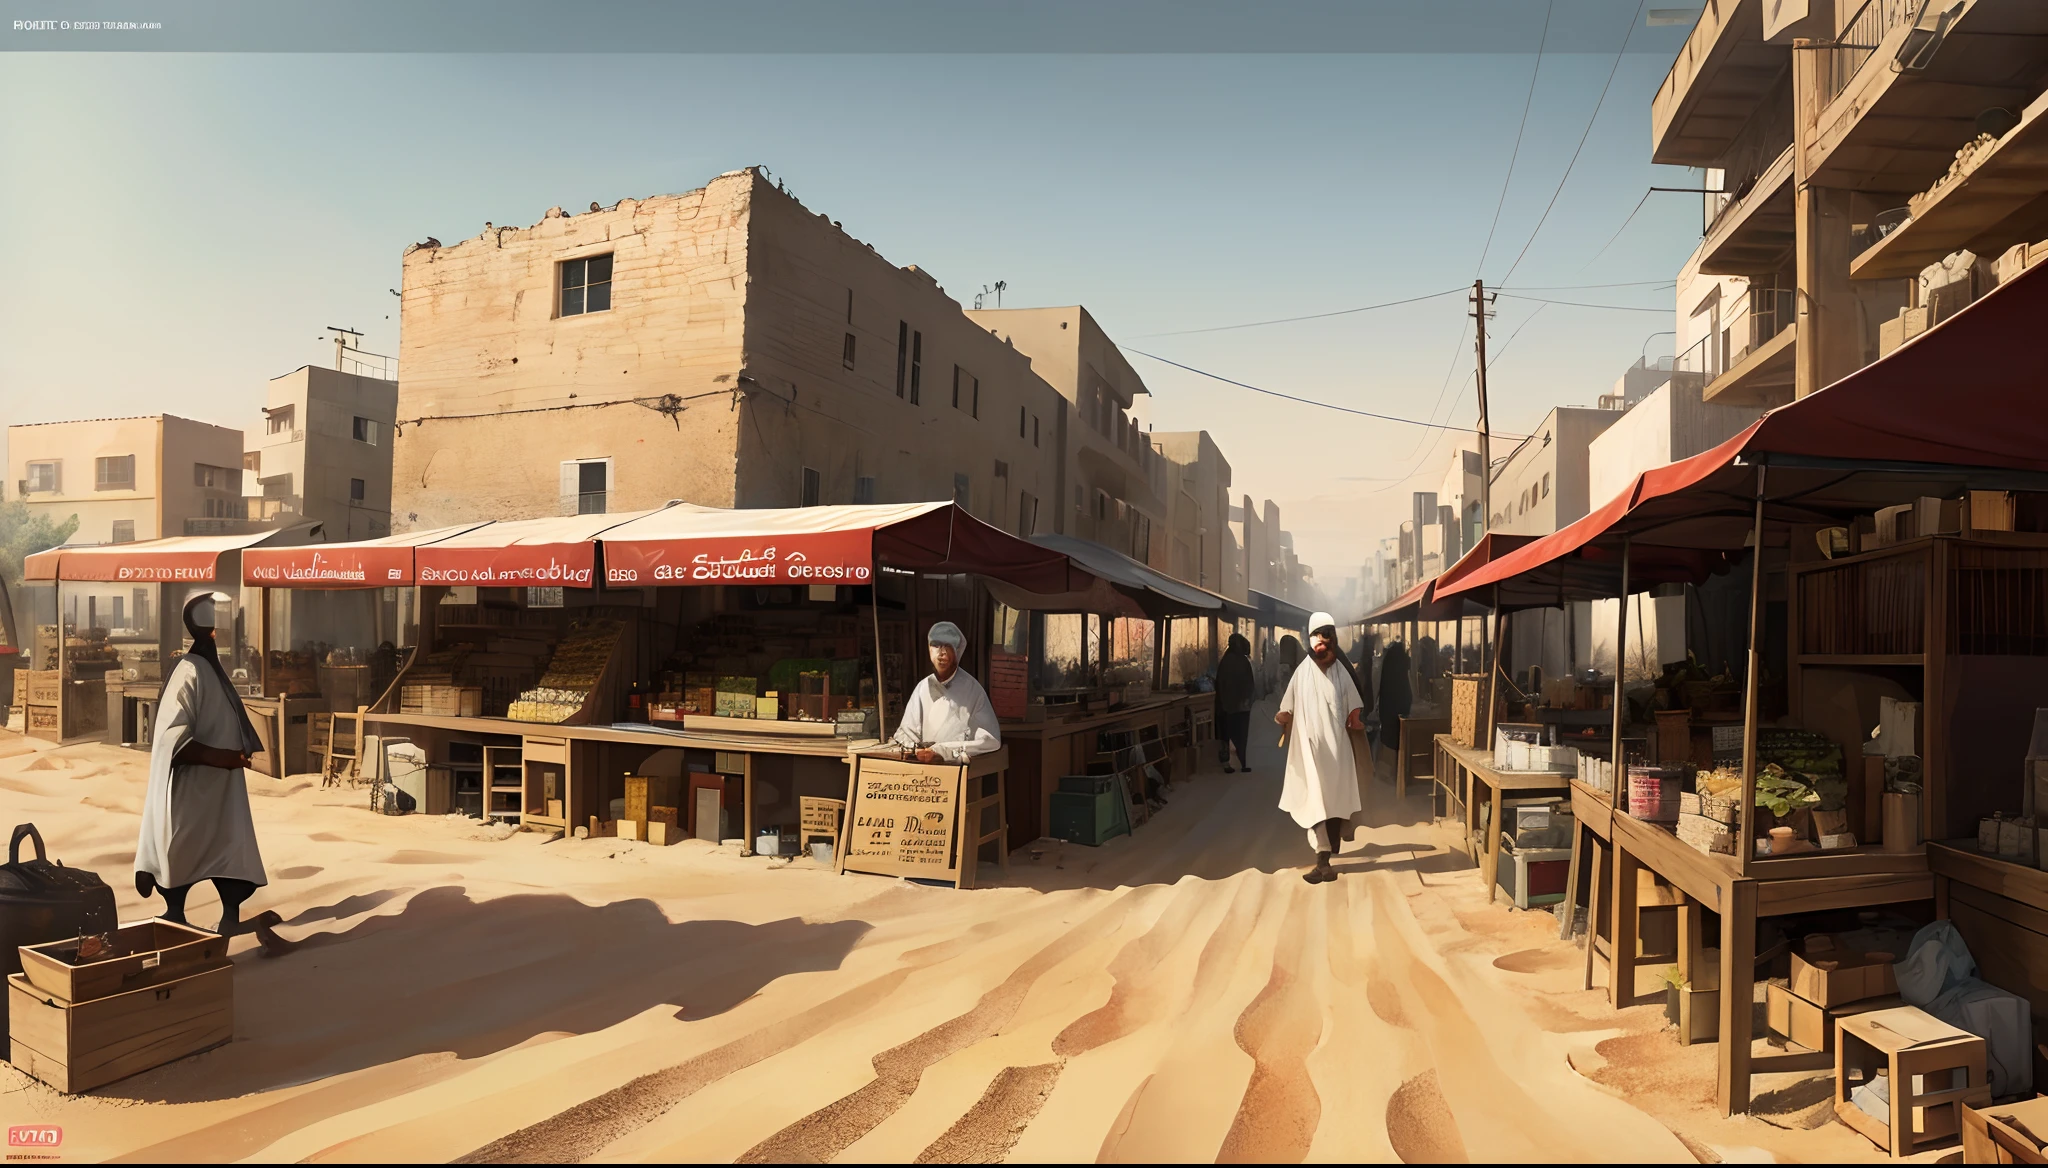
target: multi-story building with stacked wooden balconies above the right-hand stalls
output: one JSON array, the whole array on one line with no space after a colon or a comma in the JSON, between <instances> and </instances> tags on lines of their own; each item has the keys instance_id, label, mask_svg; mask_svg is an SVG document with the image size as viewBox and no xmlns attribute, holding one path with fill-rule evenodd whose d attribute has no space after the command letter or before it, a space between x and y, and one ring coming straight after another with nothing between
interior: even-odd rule
<instances>
[{"instance_id":1,"label":"multi-story building with stacked wooden balconies above the right-hand stalls","mask_svg":"<svg viewBox=\"0 0 2048 1168\"><path fill-rule=\"evenodd\" d=\"M1651 102L1700 168L1679 369L1774 406L1876 361L2042 256L2034 0L1716 0Z\"/></svg>"}]
</instances>

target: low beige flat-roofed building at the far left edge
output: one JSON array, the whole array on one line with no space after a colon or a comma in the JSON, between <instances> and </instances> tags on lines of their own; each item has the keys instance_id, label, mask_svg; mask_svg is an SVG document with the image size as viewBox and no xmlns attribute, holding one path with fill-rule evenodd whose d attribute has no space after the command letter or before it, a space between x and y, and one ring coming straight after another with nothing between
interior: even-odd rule
<instances>
[{"instance_id":1,"label":"low beige flat-roofed building at the far left edge","mask_svg":"<svg viewBox=\"0 0 2048 1168\"><path fill-rule=\"evenodd\" d=\"M8 426L8 490L70 543L242 529L242 430L172 414Z\"/></svg>"}]
</instances>

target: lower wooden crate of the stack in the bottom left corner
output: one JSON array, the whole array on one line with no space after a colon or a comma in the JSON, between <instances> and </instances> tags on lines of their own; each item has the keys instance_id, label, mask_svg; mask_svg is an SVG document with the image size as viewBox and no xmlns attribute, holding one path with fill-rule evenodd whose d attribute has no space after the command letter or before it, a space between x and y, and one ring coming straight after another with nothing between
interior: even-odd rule
<instances>
[{"instance_id":1,"label":"lower wooden crate of the stack in the bottom left corner","mask_svg":"<svg viewBox=\"0 0 2048 1168\"><path fill-rule=\"evenodd\" d=\"M29 977L6 979L12 1061L78 1094L236 1037L231 963L111 998L66 1002Z\"/></svg>"}]
</instances>

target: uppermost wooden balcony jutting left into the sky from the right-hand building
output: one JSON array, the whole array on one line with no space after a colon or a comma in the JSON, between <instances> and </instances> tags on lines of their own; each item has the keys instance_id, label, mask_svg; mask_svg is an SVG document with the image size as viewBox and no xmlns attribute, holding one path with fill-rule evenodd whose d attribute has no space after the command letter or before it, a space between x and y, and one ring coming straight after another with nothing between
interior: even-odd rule
<instances>
[{"instance_id":1,"label":"uppermost wooden balcony jutting left into the sky from the right-hand building","mask_svg":"<svg viewBox=\"0 0 2048 1168\"><path fill-rule=\"evenodd\" d=\"M1763 0L1708 0L1651 98L1651 162L1716 166L1786 70Z\"/></svg>"}]
</instances>

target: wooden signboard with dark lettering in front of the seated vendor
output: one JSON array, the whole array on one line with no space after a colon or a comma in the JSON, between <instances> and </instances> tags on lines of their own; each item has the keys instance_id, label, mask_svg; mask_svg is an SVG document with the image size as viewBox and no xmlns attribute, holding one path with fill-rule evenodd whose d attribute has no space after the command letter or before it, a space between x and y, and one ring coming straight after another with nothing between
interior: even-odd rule
<instances>
[{"instance_id":1,"label":"wooden signboard with dark lettering in front of the seated vendor","mask_svg":"<svg viewBox=\"0 0 2048 1168\"><path fill-rule=\"evenodd\" d=\"M860 758L844 871L958 883L961 768Z\"/></svg>"}]
</instances>

